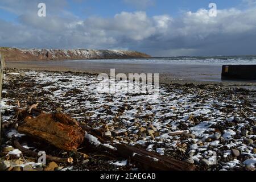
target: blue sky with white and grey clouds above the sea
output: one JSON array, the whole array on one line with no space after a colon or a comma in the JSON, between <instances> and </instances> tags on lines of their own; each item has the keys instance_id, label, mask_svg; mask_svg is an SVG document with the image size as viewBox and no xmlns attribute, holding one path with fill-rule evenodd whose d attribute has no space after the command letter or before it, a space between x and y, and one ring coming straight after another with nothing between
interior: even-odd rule
<instances>
[{"instance_id":1,"label":"blue sky with white and grey clouds above the sea","mask_svg":"<svg viewBox=\"0 0 256 182\"><path fill-rule=\"evenodd\" d=\"M256 55L256 0L1 0L0 46Z\"/></svg>"}]
</instances>

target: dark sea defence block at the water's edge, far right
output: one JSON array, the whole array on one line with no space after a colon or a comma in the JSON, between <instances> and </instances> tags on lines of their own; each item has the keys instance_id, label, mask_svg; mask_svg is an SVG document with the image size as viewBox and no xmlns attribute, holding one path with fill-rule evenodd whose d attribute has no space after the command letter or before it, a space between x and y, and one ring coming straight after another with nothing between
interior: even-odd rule
<instances>
[{"instance_id":1,"label":"dark sea defence block at the water's edge, far right","mask_svg":"<svg viewBox=\"0 0 256 182\"><path fill-rule=\"evenodd\" d=\"M223 65L222 80L256 80L256 65Z\"/></svg>"}]
</instances>

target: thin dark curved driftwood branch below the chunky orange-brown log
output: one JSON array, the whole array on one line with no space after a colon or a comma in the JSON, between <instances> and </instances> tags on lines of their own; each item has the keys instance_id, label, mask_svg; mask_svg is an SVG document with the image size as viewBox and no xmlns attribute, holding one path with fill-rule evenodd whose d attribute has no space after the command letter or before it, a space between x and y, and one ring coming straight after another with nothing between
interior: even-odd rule
<instances>
[{"instance_id":1,"label":"thin dark curved driftwood branch below the chunky orange-brown log","mask_svg":"<svg viewBox=\"0 0 256 182\"><path fill-rule=\"evenodd\" d=\"M28 150L27 148L24 148L18 140L14 140L13 142L14 144L14 147L15 148L18 148L20 151L22 151L23 154L27 154L27 155L30 155L32 157L35 157L37 158L38 157L38 153L37 152L34 152L34 151L31 151L31 150ZM49 160L49 161L53 161L53 162L56 162L56 163L71 163L72 159L71 158L57 158L55 156L51 156L51 155L46 155L46 160Z\"/></svg>"}]
</instances>

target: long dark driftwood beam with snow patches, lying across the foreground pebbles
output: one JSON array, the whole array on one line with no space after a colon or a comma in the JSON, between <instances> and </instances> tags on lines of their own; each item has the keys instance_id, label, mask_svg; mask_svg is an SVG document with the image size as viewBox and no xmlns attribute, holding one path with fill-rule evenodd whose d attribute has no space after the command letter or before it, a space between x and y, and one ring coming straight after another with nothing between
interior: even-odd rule
<instances>
[{"instance_id":1,"label":"long dark driftwood beam with snow patches, lying across the foreground pebbles","mask_svg":"<svg viewBox=\"0 0 256 182\"><path fill-rule=\"evenodd\" d=\"M192 171L195 168L192 164L171 159L167 156L159 155L142 148L129 146L124 143L113 143L109 137L106 137L99 130L92 129L86 125L80 124L80 126L102 143L101 148L122 158L130 159L132 162L137 162L146 169L160 171ZM112 147L104 146L104 144L109 144Z\"/></svg>"}]
</instances>

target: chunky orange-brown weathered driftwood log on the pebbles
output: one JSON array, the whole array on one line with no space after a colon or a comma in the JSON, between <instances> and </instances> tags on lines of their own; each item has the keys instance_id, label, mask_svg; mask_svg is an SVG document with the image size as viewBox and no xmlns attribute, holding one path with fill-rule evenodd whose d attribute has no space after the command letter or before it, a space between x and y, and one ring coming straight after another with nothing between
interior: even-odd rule
<instances>
[{"instance_id":1,"label":"chunky orange-brown weathered driftwood log on the pebbles","mask_svg":"<svg viewBox=\"0 0 256 182\"><path fill-rule=\"evenodd\" d=\"M26 117L19 123L18 131L65 151L76 151L84 141L85 135L75 119L62 113L40 114L35 118Z\"/></svg>"}]
</instances>

